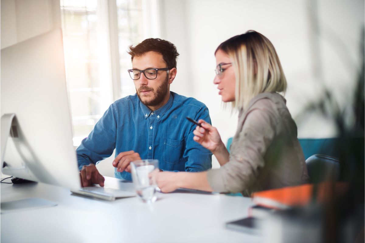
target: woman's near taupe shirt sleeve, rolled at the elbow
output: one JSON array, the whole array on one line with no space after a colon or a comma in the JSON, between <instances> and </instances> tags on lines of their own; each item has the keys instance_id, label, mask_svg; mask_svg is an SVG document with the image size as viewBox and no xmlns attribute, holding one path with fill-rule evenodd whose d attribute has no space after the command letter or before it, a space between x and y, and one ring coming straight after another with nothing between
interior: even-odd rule
<instances>
[{"instance_id":1,"label":"woman's near taupe shirt sleeve, rolled at the elbow","mask_svg":"<svg viewBox=\"0 0 365 243\"><path fill-rule=\"evenodd\" d=\"M208 171L208 183L215 192L242 192L255 183L264 156L276 136L278 115L269 99L257 101L239 119L231 145L229 161L219 169Z\"/></svg>"}]
</instances>

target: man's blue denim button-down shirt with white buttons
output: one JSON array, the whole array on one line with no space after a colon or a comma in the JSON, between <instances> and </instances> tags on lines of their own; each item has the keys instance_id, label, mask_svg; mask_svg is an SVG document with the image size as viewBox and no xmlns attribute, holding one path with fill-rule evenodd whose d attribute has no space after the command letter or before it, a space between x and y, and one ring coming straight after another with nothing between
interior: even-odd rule
<instances>
[{"instance_id":1,"label":"man's blue denim button-down shirt with white buttons","mask_svg":"<svg viewBox=\"0 0 365 243\"><path fill-rule=\"evenodd\" d=\"M212 167L212 153L193 140L196 125L187 116L211 123L203 103L173 92L155 111L143 105L137 94L118 99L77 148L78 167L96 164L111 156L115 148L116 156L134 150L142 159L157 159L162 170L206 171ZM115 168L114 174L131 180L129 172Z\"/></svg>"}]
</instances>

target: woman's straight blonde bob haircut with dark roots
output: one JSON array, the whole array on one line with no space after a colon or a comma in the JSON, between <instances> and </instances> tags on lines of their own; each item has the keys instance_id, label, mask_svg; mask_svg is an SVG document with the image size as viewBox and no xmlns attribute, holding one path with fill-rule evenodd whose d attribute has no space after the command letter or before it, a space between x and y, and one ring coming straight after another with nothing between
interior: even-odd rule
<instances>
[{"instance_id":1,"label":"woman's straight blonde bob haircut with dark roots","mask_svg":"<svg viewBox=\"0 0 365 243\"><path fill-rule=\"evenodd\" d=\"M249 30L221 43L232 61L236 90L233 108L245 109L252 98L264 92L285 93L287 80L273 44L264 35Z\"/></svg>"}]
</instances>

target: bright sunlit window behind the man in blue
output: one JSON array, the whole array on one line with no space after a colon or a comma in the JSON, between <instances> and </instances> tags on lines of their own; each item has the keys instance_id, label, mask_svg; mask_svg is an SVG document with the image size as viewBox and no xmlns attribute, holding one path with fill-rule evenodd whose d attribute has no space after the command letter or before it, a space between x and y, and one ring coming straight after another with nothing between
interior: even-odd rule
<instances>
[{"instance_id":1,"label":"bright sunlit window behind the man in blue","mask_svg":"<svg viewBox=\"0 0 365 243\"><path fill-rule=\"evenodd\" d=\"M88 136L108 106L134 94L128 46L159 35L158 1L61 0L73 143Z\"/></svg>"}]
</instances>

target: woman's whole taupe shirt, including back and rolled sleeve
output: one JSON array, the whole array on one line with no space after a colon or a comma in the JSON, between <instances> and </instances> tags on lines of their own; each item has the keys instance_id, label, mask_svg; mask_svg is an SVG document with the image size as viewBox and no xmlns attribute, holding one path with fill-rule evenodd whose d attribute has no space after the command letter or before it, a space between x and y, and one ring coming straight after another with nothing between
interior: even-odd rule
<instances>
[{"instance_id":1,"label":"woman's whole taupe shirt, including back and rolled sleeve","mask_svg":"<svg viewBox=\"0 0 365 243\"><path fill-rule=\"evenodd\" d=\"M208 171L215 192L252 192L308 183L297 127L278 93L254 97L238 116L227 164Z\"/></svg>"}]
</instances>

